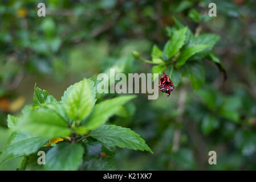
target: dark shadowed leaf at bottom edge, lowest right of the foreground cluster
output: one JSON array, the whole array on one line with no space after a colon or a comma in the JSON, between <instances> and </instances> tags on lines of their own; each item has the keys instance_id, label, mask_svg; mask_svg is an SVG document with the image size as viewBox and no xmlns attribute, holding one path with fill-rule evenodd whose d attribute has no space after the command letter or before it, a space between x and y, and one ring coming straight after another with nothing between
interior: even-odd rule
<instances>
[{"instance_id":1,"label":"dark shadowed leaf at bottom edge, lowest right of the foreground cluster","mask_svg":"<svg viewBox=\"0 0 256 182\"><path fill-rule=\"evenodd\" d=\"M94 158L84 161L83 170L89 171L113 171L116 170L115 156L102 157L100 159Z\"/></svg>"}]
</instances>

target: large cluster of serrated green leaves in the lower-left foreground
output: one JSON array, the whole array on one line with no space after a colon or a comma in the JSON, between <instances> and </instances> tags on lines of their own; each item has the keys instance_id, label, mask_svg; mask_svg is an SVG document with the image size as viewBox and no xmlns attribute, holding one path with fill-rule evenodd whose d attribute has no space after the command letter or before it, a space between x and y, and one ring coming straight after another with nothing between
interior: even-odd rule
<instances>
[{"instance_id":1,"label":"large cluster of serrated green leaves in the lower-left foreground","mask_svg":"<svg viewBox=\"0 0 256 182\"><path fill-rule=\"evenodd\" d=\"M0 162L24 156L21 170L112 170L115 169L112 146L152 152L134 131L104 125L133 98L120 96L95 105L94 81L86 78L68 87L61 102L46 90L35 88L32 107L26 107L21 117L8 116L11 136ZM92 138L99 142L91 142ZM95 148L95 143L99 147ZM43 167L36 162L39 150L46 152ZM99 158L101 152L107 157Z\"/></svg>"}]
</instances>

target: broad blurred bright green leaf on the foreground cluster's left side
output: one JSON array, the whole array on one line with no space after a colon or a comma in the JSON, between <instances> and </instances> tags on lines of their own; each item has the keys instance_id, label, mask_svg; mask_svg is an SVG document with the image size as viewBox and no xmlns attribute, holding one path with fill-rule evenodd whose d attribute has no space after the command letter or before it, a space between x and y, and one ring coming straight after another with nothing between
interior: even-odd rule
<instances>
[{"instance_id":1,"label":"broad blurred bright green leaf on the foreground cluster's left side","mask_svg":"<svg viewBox=\"0 0 256 182\"><path fill-rule=\"evenodd\" d=\"M18 122L17 129L42 137L63 137L71 134L67 123L49 110L31 111Z\"/></svg>"}]
</instances>

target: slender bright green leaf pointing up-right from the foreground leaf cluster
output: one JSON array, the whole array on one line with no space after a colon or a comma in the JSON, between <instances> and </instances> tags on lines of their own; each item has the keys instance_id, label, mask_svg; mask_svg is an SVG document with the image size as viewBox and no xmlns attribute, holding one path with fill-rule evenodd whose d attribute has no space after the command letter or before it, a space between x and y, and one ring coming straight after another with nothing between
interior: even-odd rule
<instances>
[{"instance_id":1,"label":"slender bright green leaf pointing up-right from the foreground leaf cluster","mask_svg":"<svg viewBox=\"0 0 256 182\"><path fill-rule=\"evenodd\" d=\"M121 105L124 105L135 97L136 96L120 96L96 104L90 117L86 123L84 123L85 129L90 131L104 125L108 118L115 114Z\"/></svg>"}]
</instances>

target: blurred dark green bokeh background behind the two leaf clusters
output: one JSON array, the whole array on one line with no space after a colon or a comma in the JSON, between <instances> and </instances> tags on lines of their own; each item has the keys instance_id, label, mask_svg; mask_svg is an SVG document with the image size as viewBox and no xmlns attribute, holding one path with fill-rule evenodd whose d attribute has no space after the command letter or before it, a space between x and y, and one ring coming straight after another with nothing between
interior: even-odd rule
<instances>
[{"instance_id":1,"label":"blurred dark green bokeh background behind the two leaf clusters","mask_svg":"<svg viewBox=\"0 0 256 182\"><path fill-rule=\"evenodd\" d=\"M37 16L39 2L46 4L46 17ZM217 17L207 16L210 2ZM9 137L7 114L19 115L31 104L35 82L59 100L70 84L96 80L109 68L151 73L152 66L131 52L151 59L153 44L164 47L175 17L192 32L220 35L214 51L228 78L205 60L206 81L197 92L183 79L170 97L138 94L109 123L135 130L155 153L118 148L117 169L255 170L255 12L254 0L2 0L0 150ZM217 152L217 165L208 164L210 150ZM0 169L15 170L21 161Z\"/></svg>"}]
</instances>

